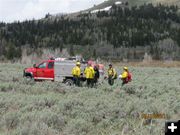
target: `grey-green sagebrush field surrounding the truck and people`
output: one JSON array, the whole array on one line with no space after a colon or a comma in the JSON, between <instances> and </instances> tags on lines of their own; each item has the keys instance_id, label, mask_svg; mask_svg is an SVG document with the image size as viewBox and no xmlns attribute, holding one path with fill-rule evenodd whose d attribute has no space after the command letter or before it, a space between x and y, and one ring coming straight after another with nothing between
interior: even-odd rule
<instances>
[{"instance_id":1,"label":"grey-green sagebrush field surrounding the truck and people","mask_svg":"<svg viewBox=\"0 0 180 135\"><path fill-rule=\"evenodd\" d=\"M1 135L164 135L165 121L180 118L179 68L130 67L128 85L88 89L26 80L25 67L0 63Z\"/></svg>"}]
</instances>

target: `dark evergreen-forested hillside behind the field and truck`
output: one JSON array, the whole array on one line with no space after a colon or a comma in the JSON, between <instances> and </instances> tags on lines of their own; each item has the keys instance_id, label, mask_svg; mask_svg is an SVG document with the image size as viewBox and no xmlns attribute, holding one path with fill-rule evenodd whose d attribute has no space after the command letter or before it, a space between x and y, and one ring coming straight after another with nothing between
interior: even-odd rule
<instances>
[{"instance_id":1,"label":"dark evergreen-forested hillside behind the field and truck","mask_svg":"<svg viewBox=\"0 0 180 135\"><path fill-rule=\"evenodd\" d=\"M67 48L86 58L180 59L178 6L113 5L109 11L51 19L0 23L1 58L20 58L22 47ZM87 51L89 53L87 53ZM29 52L31 53L31 52Z\"/></svg>"}]
</instances>

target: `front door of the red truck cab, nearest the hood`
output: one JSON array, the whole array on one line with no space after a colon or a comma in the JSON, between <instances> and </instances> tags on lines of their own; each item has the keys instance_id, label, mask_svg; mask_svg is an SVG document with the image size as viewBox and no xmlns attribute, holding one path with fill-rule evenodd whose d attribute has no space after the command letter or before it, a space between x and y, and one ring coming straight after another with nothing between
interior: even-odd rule
<instances>
[{"instance_id":1,"label":"front door of the red truck cab, nearest the hood","mask_svg":"<svg viewBox=\"0 0 180 135\"><path fill-rule=\"evenodd\" d=\"M46 70L47 62L43 62L38 65L36 68L36 77L35 79L43 80L45 79L45 70Z\"/></svg>"}]
</instances>

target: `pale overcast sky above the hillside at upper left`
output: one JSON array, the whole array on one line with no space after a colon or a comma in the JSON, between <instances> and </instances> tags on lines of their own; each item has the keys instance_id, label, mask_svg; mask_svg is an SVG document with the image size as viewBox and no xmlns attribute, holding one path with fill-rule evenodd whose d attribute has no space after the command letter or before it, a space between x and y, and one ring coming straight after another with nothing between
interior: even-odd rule
<instances>
[{"instance_id":1,"label":"pale overcast sky above the hillside at upper left","mask_svg":"<svg viewBox=\"0 0 180 135\"><path fill-rule=\"evenodd\" d=\"M39 19L45 14L80 11L104 0L0 0L0 22Z\"/></svg>"}]
</instances>

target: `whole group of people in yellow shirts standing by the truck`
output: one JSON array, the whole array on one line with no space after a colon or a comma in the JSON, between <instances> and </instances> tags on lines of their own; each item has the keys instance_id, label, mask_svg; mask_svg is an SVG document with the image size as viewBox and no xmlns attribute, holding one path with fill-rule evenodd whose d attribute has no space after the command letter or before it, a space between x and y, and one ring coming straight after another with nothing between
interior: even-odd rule
<instances>
[{"instance_id":1,"label":"whole group of people in yellow shirts standing by the truck","mask_svg":"<svg viewBox=\"0 0 180 135\"><path fill-rule=\"evenodd\" d=\"M127 67L123 68L124 71L121 75L119 75L119 78L122 80L122 86L129 81L131 81L131 74L128 71ZM114 80L118 78L116 70L113 68L112 64L109 64L108 68L108 83L109 85L114 84ZM77 62L76 66L72 69L72 75L73 75L73 81L76 86L80 86L80 81L83 78L83 73L81 72L81 63ZM99 75L99 69L98 66L95 65L92 67L91 63L87 63L87 67L84 69L84 75L87 82L87 87L94 87L94 85L97 84L98 79L100 77Z\"/></svg>"}]
</instances>

